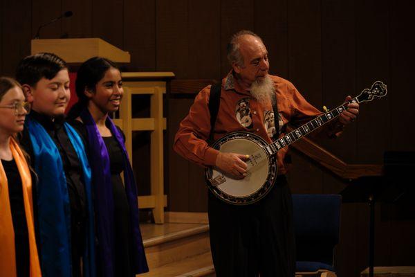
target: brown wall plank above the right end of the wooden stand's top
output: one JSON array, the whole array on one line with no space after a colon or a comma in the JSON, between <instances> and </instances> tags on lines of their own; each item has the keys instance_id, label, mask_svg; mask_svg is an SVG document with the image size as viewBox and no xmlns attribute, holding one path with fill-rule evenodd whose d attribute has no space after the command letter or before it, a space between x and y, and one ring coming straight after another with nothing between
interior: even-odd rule
<instances>
[{"instance_id":1,"label":"brown wall plank above the right end of the wooden stand's top","mask_svg":"<svg viewBox=\"0 0 415 277\"><path fill-rule=\"evenodd\" d=\"M189 64L188 1L156 1L156 71L187 78Z\"/></svg>"}]
</instances>

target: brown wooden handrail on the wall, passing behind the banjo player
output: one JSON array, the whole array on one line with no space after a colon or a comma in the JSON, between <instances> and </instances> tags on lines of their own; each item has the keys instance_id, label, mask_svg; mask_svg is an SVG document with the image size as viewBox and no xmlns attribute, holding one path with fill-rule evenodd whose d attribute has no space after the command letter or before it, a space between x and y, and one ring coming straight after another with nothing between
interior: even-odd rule
<instances>
[{"instance_id":1,"label":"brown wooden handrail on the wall, passing behind the banjo player","mask_svg":"<svg viewBox=\"0 0 415 277\"><path fill-rule=\"evenodd\" d=\"M174 94L196 94L208 84L213 84L214 80L172 80L171 91ZM287 132L293 129L287 128ZM291 147L302 152L307 157L313 159L316 163L330 170L338 177L343 179L358 179L363 176L381 176L383 175L383 166L376 164L347 164L338 157L331 154L328 150L322 148L317 143L307 137L293 143Z\"/></svg>"}]
</instances>

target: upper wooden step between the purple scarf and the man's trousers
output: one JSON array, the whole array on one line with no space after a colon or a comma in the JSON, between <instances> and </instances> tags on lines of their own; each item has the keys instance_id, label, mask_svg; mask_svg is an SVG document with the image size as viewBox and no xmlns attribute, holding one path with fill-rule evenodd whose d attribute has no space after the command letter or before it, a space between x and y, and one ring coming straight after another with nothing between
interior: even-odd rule
<instances>
[{"instance_id":1,"label":"upper wooden step between the purple scarf and the man's trousers","mask_svg":"<svg viewBox=\"0 0 415 277\"><path fill-rule=\"evenodd\" d=\"M168 265L169 269L176 268L180 266L176 266L178 262L183 262L187 258L200 256L201 254L208 253L208 256L210 256L208 224L141 224L140 228L151 272L164 265ZM193 261L195 260L193 259ZM211 260L210 263L202 267L209 265L212 265ZM196 269L199 269L199 267L192 268L192 270ZM176 275L192 270L180 268Z\"/></svg>"}]
</instances>

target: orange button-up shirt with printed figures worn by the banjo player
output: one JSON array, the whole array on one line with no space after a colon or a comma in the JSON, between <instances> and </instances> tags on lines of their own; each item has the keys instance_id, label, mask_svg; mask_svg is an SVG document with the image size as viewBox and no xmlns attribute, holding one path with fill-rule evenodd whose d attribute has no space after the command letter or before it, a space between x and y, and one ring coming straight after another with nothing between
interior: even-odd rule
<instances>
[{"instance_id":1,"label":"orange button-up shirt with printed figures worn by the banjo player","mask_svg":"<svg viewBox=\"0 0 415 277\"><path fill-rule=\"evenodd\" d=\"M291 82L274 75L270 75L270 78L275 87L280 131L285 129L284 125L288 122L300 125L322 114L304 99ZM208 107L210 87L205 87L196 96L189 114L181 121L174 140L174 150L200 166L214 166L219 154L218 150L211 148L206 142L211 129ZM221 139L230 132L253 132L271 143L276 125L273 115L271 103L259 104L249 91L244 91L239 86L230 72L222 80L221 103L214 125L213 139ZM330 127L328 133L331 135L335 131ZM280 132L280 136L284 136L284 133ZM279 175L286 173L284 157L287 151L288 146L277 152Z\"/></svg>"}]
</instances>

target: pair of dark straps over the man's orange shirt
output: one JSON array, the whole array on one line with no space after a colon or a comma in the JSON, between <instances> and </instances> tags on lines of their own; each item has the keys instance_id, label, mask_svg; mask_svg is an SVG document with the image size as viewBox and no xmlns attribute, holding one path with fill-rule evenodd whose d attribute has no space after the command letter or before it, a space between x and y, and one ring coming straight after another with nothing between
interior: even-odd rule
<instances>
[{"instance_id":1,"label":"pair of dark straps over the man's orange shirt","mask_svg":"<svg viewBox=\"0 0 415 277\"><path fill-rule=\"evenodd\" d=\"M213 143L213 131L214 125L216 123L216 117L218 116L219 106L221 105L221 89L222 84L212 84L210 87L210 96L209 96L209 112L210 112L210 134L208 143ZM278 139L279 136L279 118L278 118L278 107L277 107L277 98L275 93L273 93L273 111L274 111L274 122L275 122L275 134L273 136L273 141Z\"/></svg>"}]
</instances>

